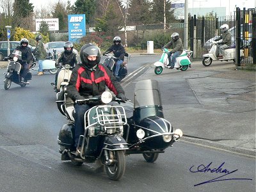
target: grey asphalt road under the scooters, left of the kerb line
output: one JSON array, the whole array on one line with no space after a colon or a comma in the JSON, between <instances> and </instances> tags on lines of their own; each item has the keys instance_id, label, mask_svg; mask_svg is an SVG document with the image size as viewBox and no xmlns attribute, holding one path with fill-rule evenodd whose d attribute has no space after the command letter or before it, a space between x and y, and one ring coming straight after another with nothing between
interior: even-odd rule
<instances>
[{"instance_id":1,"label":"grey asphalt road under the scooters, left of the kerb line","mask_svg":"<svg viewBox=\"0 0 256 192\"><path fill-rule=\"evenodd\" d=\"M134 56L129 73L145 76L142 68L134 70L158 58ZM12 84L10 90L4 90L0 81L1 191L255 191L255 158L185 140L167 148L156 163L146 163L141 154L127 156L124 177L118 182L105 172L93 173L93 164L76 167L61 162L56 138L67 121L56 108L53 79L47 72L36 76L33 71L31 84ZM124 82L129 97L133 82ZM162 97L167 104L169 95L163 92ZM204 120L206 124L208 119Z\"/></svg>"}]
</instances>

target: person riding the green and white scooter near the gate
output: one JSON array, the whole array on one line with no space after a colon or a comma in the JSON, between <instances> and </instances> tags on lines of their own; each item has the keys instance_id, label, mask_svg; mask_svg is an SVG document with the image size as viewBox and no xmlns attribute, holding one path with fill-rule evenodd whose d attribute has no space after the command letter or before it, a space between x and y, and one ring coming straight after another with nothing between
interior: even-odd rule
<instances>
[{"instance_id":1,"label":"person riding the green and white scooter near the gate","mask_svg":"<svg viewBox=\"0 0 256 192\"><path fill-rule=\"evenodd\" d=\"M182 45L182 40L179 38L179 33L173 33L172 34L172 40L168 42L168 44L164 45L164 48L172 48L172 51L168 52L168 60L169 63L167 66L170 66L170 68L174 68L174 64L176 61L176 58L180 56L180 54L183 51L183 45ZM172 59L171 59L172 56Z\"/></svg>"}]
</instances>

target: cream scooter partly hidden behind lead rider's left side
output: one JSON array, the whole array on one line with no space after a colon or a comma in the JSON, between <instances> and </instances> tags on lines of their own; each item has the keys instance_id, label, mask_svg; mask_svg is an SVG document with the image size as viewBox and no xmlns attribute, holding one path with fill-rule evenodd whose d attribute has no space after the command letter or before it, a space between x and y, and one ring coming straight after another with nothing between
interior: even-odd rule
<instances>
[{"instance_id":1,"label":"cream scooter partly hidden behind lead rider's left side","mask_svg":"<svg viewBox=\"0 0 256 192\"><path fill-rule=\"evenodd\" d=\"M54 86L54 92L58 93L64 90L64 87L68 84L70 80L71 74L72 74L72 70L70 69L70 65L68 64L63 65L58 74L56 88L55 88L55 83L51 82L51 85Z\"/></svg>"}]
</instances>

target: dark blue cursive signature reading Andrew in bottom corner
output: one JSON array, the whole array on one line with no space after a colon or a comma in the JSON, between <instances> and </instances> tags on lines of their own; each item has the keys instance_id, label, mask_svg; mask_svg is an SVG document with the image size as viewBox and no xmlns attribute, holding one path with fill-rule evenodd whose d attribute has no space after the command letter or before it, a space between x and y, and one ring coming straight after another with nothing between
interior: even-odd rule
<instances>
[{"instance_id":1,"label":"dark blue cursive signature reading Andrew in bottom corner","mask_svg":"<svg viewBox=\"0 0 256 192\"><path fill-rule=\"evenodd\" d=\"M243 178L224 179L223 177L230 175L231 173L234 173L237 170L229 171L229 170L223 168L223 165L225 164L225 162L221 163L221 165L218 166L218 168L210 168L211 164L212 164L212 162L209 163L207 166L205 166L204 164L200 164L197 168L195 167L195 165L193 165L193 166L191 166L189 171L192 173L198 173L198 172L222 173L224 175L221 175L220 177L216 177L211 180L207 180L205 182L200 182L199 184L196 184L194 186L199 186L202 184L207 184L209 182L216 182L216 181L221 181L221 180L252 180L252 179L243 179Z\"/></svg>"}]
</instances>

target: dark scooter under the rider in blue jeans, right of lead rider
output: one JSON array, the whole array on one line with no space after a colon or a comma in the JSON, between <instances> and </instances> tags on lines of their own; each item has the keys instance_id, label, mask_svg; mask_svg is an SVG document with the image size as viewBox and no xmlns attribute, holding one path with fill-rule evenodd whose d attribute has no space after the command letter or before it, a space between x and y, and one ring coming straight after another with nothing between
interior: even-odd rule
<instances>
[{"instance_id":1,"label":"dark scooter under the rider in blue jeans, right of lead rider","mask_svg":"<svg viewBox=\"0 0 256 192\"><path fill-rule=\"evenodd\" d=\"M107 56L107 58L104 59L103 65L106 65L109 68L109 70L111 70L111 72L115 72L116 61L118 60L118 58L116 58L112 54L105 54L105 56ZM130 58L131 58L131 54L128 54L126 52L124 57L124 62L122 63L122 65L120 65L120 69L118 72L118 77L119 77L117 78L118 81L122 81L122 79L124 79L124 77L127 76L127 63L128 63L128 60L130 60Z\"/></svg>"}]
</instances>

